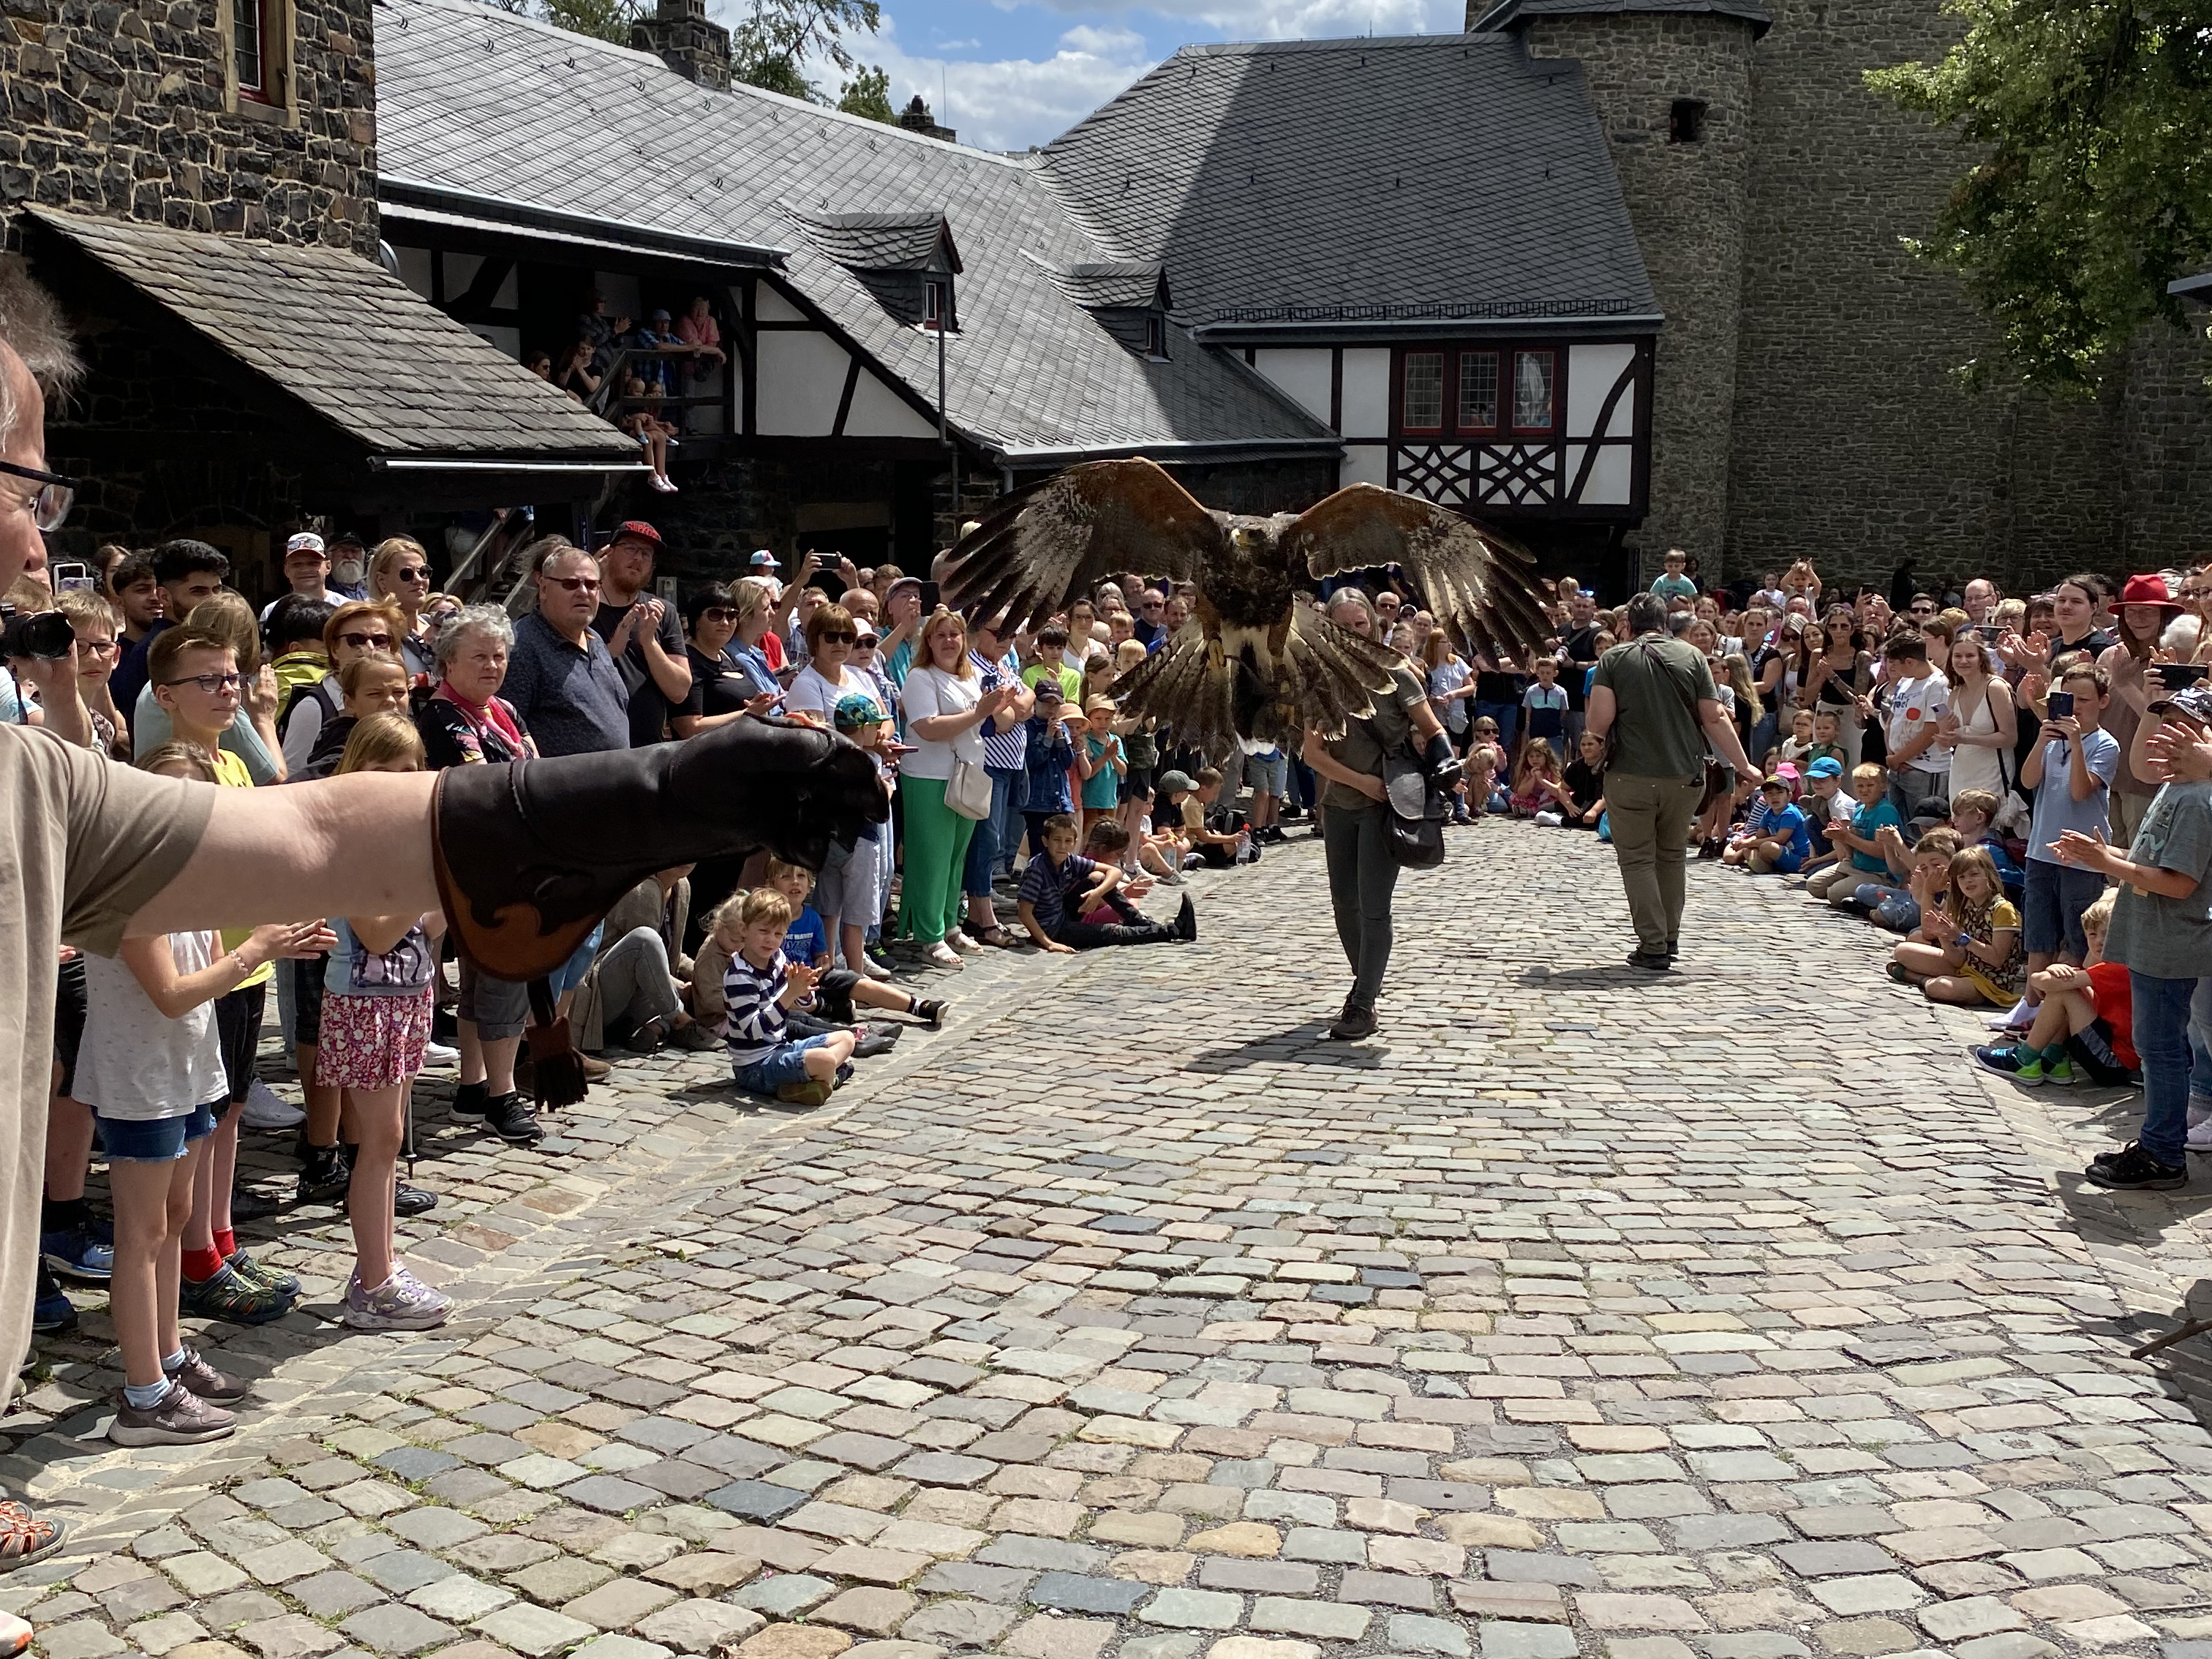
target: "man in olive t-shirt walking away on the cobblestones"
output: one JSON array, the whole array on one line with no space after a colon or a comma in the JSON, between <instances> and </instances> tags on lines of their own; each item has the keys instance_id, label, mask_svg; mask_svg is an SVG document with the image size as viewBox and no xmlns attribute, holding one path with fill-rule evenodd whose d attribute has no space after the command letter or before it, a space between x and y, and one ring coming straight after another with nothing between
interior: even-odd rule
<instances>
[{"instance_id":1,"label":"man in olive t-shirt walking away on the cobblestones","mask_svg":"<svg viewBox=\"0 0 2212 1659\"><path fill-rule=\"evenodd\" d=\"M1739 774L1752 763L1721 712L1705 657L1668 637L1666 599L1632 597L1628 633L1628 644L1597 659L1588 730L1613 737L1606 818L1637 929L1628 964L1663 971L1681 942L1683 856L1705 792L1705 748Z\"/></svg>"}]
</instances>

